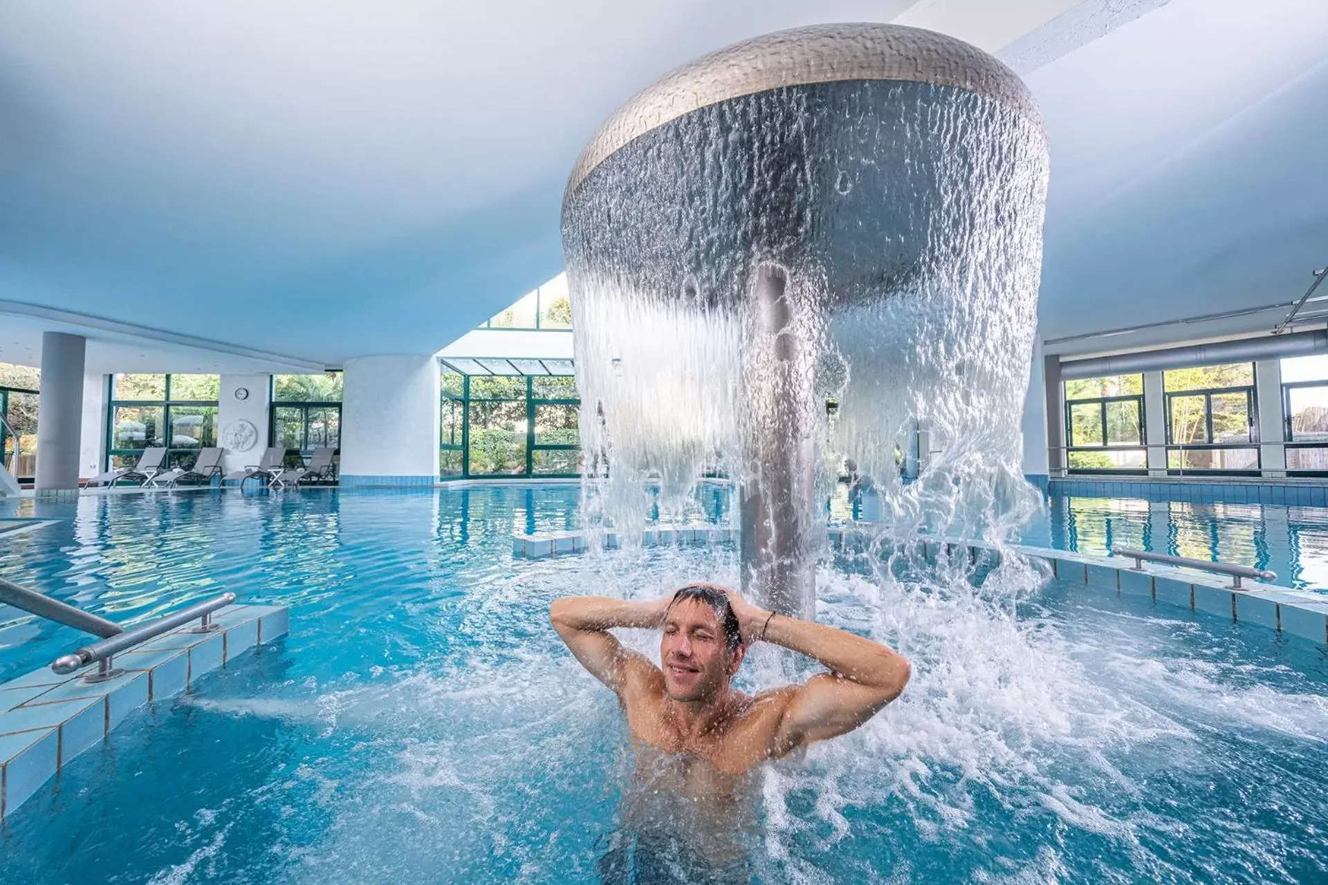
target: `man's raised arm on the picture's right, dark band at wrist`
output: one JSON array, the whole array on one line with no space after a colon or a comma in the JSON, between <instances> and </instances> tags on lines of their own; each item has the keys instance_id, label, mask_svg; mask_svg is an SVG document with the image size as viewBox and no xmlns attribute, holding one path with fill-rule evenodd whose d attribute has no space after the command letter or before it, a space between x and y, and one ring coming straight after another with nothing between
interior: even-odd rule
<instances>
[{"instance_id":1,"label":"man's raised arm on the picture's right, dark band at wrist","mask_svg":"<svg viewBox=\"0 0 1328 885\"><path fill-rule=\"evenodd\" d=\"M825 624L772 617L732 590L729 598L745 641L782 645L830 670L786 689L788 702L770 747L776 756L853 731L898 698L908 682L908 661L879 642Z\"/></svg>"}]
</instances>

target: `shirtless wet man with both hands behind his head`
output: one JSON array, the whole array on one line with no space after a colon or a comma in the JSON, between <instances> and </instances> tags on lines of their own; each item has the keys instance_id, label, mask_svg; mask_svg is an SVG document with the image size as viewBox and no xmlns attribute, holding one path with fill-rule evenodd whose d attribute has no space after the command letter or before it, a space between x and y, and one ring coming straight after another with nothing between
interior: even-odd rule
<instances>
[{"instance_id":1,"label":"shirtless wet man with both hands behind his head","mask_svg":"<svg viewBox=\"0 0 1328 885\"><path fill-rule=\"evenodd\" d=\"M908 661L896 651L758 609L713 584L684 586L653 602L572 596L554 600L548 616L582 666L618 693L633 746L664 760L655 766L653 787L640 792L681 795L693 813L706 817L706 807L716 819L725 816L749 770L853 731L908 682ZM623 647L612 628L663 629L663 666ZM729 683L756 642L806 654L830 671L754 697L734 691ZM713 836L713 827L701 831ZM720 849L699 848L714 862L729 861L716 856Z\"/></svg>"}]
</instances>

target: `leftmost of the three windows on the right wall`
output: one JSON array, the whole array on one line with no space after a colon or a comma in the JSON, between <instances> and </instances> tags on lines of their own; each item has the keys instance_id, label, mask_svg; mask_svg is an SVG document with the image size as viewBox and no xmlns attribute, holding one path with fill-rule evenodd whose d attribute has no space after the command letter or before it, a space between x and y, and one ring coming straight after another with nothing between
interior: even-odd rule
<instances>
[{"instance_id":1,"label":"leftmost of the three windows on the right wall","mask_svg":"<svg viewBox=\"0 0 1328 885\"><path fill-rule=\"evenodd\" d=\"M1065 382L1069 468L1143 471L1143 375L1104 375Z\"/></svg>"}]
</instances>

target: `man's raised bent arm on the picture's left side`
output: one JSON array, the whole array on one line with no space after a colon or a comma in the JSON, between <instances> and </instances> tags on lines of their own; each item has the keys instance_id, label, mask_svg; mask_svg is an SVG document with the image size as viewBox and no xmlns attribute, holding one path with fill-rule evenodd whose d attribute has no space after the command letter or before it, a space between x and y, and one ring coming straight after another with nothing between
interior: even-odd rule
<instances>
[{"instance_id":1,"label":"man's raised bent arm on the picture's left side","mask_svg":"<svg viewBox=\"0 0 1328 885\"><path fill-rule=\"evenodd\" d=\"M668 600L628 602L604 596L567 596L548 606L548 620L582 666L614 691L620 691L627 667L633 662L652 666L623 647L612 628L656 628L664 620Z\"/></svg>"}]
</instances>

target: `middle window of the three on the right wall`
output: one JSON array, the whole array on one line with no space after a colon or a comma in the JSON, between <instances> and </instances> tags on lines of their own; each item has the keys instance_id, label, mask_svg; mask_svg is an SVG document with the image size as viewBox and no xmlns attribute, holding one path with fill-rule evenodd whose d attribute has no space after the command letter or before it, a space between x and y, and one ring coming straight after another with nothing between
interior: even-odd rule
<instances>
[{"instance_id":1,"label":"middle window of the three on the right wall","mask_svg":"<svg viewBox=\"0 0 1328 885\"><path fill-rule=\"evenodd\" d=\"M1167 470L1259 470L1254 364L1170 369L1166 394Z\"/></svg>"}]
</instances>

